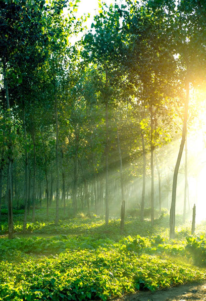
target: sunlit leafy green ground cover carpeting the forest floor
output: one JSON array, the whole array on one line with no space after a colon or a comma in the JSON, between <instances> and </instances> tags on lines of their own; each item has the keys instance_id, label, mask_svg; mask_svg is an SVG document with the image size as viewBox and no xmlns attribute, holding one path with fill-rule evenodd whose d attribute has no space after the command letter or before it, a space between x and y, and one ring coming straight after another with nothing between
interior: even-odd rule
<instances>
[{"instance_id":1,"label":"sunlit leafy green ground cover carpeting the forest floor","mask_svg":"<svg viewBox=\"0 0 206 301\"><path fill-rule=\"evenodd\" d=\"M169 241L167 222L163 215L151 227L150 221L128 217L120 234L119 219L105 227L101 216L81 214L58 225L29 221L23 233L19 220L12 240L1 230L0 300L108 300L204 280L204 253L199 262L193 259L205 238L191 237L184 225L177 240Z\"/></svg>"}]
</instances>

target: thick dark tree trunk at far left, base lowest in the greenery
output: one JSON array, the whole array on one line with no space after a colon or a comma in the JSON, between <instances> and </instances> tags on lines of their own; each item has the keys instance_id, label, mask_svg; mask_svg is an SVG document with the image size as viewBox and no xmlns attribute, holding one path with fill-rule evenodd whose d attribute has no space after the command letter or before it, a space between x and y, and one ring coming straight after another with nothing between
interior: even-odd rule
<instances>
[{"instance_id":1,"label":"thick dark tree trunk at far left, base lowest in the greenery","mask_svg":"<svg viewBox=\"0 0 206 301\"><path fill-rule=\"evenodd\" d=\"M8 202L8 238L13 237L13 208L12 208L12 164L13 164L13 150L12 150L12 140L11 140L11 113L10 113L10 103L8 96L8 84L6 77L6 62L3 57L3 84L6 94L6 109L8 116L8 174L7 174L7 202Z\"/></svg>"}]
</instances>

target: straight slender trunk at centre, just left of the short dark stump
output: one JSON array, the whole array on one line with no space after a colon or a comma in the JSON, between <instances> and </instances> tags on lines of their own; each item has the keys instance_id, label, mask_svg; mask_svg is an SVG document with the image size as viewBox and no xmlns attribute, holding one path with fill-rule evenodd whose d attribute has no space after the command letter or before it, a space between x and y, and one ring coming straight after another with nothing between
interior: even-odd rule
<instances>
[{"instance_id":1,"label":"straight slender trunk at centre, just left of the short dark stump","mask_svg":"<svg viewBox=\"0 0 206 301\"><path fill-rule=\"evenodd\" d=\"M105 146L105 224L109 224L109 204L108 204L108 103L105 103L106 113L106 146Z\"/></svg>"}]
</instances>

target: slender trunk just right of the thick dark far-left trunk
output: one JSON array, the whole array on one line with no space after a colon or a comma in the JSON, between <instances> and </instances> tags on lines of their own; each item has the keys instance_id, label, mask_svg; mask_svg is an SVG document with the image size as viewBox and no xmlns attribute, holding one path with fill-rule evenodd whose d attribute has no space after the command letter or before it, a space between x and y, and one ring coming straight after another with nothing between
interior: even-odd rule
<instances>
[{"instance_id":1,"label":"slender trunk just right of the thick dark far-left trunk","mask_svg":"<svg viewBox=\"0 0 206 301\"><path fill-rule=\"evenodd\" d=\"M23 232L26 231L27 214L28 214L28 152L27 152L27 132L25 121L25 107L23 108L23 127L24 127L24 140L25 140L25 195L24 195L24 223Z\"/></svg>"}]
</instances>

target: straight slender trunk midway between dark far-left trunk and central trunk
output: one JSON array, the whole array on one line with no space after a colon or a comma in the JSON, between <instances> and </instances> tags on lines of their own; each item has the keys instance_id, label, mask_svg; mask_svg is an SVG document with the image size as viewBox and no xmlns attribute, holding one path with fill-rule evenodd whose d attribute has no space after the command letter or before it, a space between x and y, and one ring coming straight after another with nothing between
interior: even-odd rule
<instances>
[{"instance_id":1,"label":"straight slender trunk midway between dark far-left trunk and central trunk","mask_svg":"<svg viewBox=\"0 0 206 301\"><path fill-rule=\"evenodd\" d=\"M55 224L59 221L59 166L58 166L58 112L55 96L55 122L56 122L56 217Z\"/></svg>"}]
</instances>

